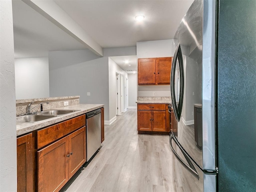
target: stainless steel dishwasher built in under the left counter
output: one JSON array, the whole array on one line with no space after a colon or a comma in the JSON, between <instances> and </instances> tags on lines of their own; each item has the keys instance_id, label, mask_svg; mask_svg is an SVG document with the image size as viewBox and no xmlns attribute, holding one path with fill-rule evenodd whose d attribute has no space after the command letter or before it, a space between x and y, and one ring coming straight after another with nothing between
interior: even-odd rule
<instances>
[{"instance_id":1,"label":"stainless steel dishwasher built in under the left counter","mask_svg":"<svg viewBox=\"0 0 256 192\"><path fill-rule=\"evenodd\" d=\"M87 157L88 162L94 153L101 146L101 109L86 113L86 141L87 141Z\"/></svg>"}]
</instances>

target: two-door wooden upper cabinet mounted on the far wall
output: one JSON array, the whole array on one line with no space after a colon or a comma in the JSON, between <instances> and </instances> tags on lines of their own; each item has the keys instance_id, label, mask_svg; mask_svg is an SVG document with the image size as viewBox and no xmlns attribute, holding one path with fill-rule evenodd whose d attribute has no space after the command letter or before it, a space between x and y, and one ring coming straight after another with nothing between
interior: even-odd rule
<instances>
[{"instance_id":1,"label":"two-door wooden upper cabinet mounted on the far wall","mask_svg":"<svg viewBox=\"0 0 256 192\"><path fill-rule=\"evenodd\" d=\"M170 84L172 57L138 59L138 84Z\"/></svg>"}]
</instances>

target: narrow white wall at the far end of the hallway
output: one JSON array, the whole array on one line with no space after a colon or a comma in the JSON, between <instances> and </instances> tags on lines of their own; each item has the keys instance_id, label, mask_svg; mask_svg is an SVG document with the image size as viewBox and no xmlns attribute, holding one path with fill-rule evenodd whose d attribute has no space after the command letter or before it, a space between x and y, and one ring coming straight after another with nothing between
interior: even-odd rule
<instances>
[{"instance_id":1,"label":"narrow white wall at the far end of the hallway","mask_svg":"<svg viewBox=\"0 0 256 192\"><path fill-rule=\"evenodd\" d=\"M137 108L136 100L137 100L137 73L128 74L129 80L129 106L128 108Z\"/></svg>"}]
</instances>

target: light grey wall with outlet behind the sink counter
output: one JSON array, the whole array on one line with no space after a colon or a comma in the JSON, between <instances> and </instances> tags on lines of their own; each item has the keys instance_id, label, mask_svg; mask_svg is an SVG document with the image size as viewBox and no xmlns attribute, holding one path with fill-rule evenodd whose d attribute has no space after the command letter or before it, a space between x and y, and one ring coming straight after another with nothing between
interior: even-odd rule
<instances>
[{"instance_id":1,"label":"light grey wall with outlet behind the sink counter","mask_svg":"<svg viewBox=\"0 0 256 192\"><path fill-rule=\"evenodd\" d=\"M81 104L104 104L109 120L108 57L90 50L49 52L49 69L50 97L79 95Z\"/></svg>"}]
</instances>

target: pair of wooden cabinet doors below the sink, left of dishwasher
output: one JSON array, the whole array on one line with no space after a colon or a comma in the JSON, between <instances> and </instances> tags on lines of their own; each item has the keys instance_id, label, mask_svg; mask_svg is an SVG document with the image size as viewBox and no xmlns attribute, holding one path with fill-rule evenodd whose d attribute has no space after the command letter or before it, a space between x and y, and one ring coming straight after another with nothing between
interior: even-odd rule
<instances>
[{"instance_id":1,"label":"pair of wooden cabinet doors below the sink, left of dishwasher","mask_svg":"<svg viewBox=\"0 0 256 192\"><path fill-rule=\"evenodd\" d=\"M86 161L85 127L37 152L38 191L59 191Z\"/></svg>"}]
</instances>

